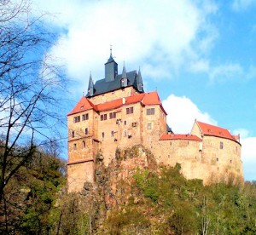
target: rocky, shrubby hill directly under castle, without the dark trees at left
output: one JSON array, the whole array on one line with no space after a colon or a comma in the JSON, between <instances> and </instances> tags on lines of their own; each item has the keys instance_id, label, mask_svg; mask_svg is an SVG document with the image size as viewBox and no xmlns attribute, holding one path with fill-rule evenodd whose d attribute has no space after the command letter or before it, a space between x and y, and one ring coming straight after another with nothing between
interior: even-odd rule
<instances>
[{"instance_id":1,"label":"rocky, shrubby hill directly under castle, without the dark trees at left","mask_svg":"<svg viewBox=\"0 0 256 235\"><path fill-rule=\"evenodd\" d=\"M99 153L96 168L96 186L85 184L83 192L73 194L71 201L78 207L76 226L70 227L70 233L256 232L255 183L234 185L230 179L228 184L203 186L200 180L186 180L179 164L156 168L154 156L143 146L123 152L117 149L108 168Z\"/></svg>"}]
</instances>

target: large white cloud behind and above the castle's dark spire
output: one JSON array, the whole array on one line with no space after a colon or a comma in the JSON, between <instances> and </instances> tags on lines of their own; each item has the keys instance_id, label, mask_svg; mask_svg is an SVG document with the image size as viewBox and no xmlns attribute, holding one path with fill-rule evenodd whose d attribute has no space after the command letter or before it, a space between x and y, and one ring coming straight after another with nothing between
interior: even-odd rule
<instances>
[{"instance_id":1,"label":"large white cloud behind and above the castle's dark spire","mask_svg":"<svg viewBox=\"0 0 256 235\"><path fill-rule=\"evenodd\" d=\"M142 66L148 78L160 79L189 68L188 61L198 60L197 54L204 54L216 38L207 20L217 11L212 1L34 2L41 11L57 13L50 24L64 31L52 53L63 58L79 89L80 83L86 89L90 71L94 79L104 77L110 43L117 62L126 61L127 71Z\"/></svg>"}]
</instances>

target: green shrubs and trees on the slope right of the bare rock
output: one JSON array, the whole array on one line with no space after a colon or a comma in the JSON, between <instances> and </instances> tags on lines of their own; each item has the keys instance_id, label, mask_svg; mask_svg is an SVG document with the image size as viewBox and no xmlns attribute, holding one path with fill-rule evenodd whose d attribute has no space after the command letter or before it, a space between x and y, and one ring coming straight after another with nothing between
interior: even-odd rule
<instances>
[{"instance_id":1,"label":"green shrubs and trees on the slope right of the bare rock","mask_svg":"<svg viewBox=\"0 0 256 235\"><path fill-rule=\"evenodd\" d=\"M186 180L179 171L177 165L162 168L159 174L146 169L134 175L137 188L151 202L154 216L162 216L158 231L255 234L255 183L203 186L200 180Z\"/></svg>"}]
</instances>

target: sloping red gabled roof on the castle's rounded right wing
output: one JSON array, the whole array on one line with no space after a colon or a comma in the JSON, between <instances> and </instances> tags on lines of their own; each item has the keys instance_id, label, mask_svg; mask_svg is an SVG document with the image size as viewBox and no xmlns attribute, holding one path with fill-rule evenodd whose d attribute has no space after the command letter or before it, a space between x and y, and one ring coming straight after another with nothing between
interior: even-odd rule
<instances>
[{"instance_id":1,"label":"sloping red gabled roof on the castle's rounded right wing","mask_svg":"<svg viewBox=\"0 0 256 235\"><path fill-rule=\"evenodd\" d=\"M221 137L224 139L237 141L236 137L234 135L231 135L230 131L228 129L213 126L213 125L207 124L207 123L201 123L198 121L196 121L196 123L198 124L199 128L201 129L201 133L203 135L212 135L212 136L217 136L217 137Z\"/></svg>"}]
</instances>

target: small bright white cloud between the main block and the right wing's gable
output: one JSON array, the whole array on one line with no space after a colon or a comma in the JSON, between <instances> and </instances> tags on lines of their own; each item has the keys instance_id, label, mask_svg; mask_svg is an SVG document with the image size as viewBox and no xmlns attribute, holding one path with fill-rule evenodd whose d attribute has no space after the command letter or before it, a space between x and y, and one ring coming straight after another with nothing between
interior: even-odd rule
<instances>
[{"instance_id":1,"label":"small bright white cloud between the main block and the right wing's gable","mask_svg":"<svg viewBox=\"0 0 256 235\"><path fill-rule=\"evenodd\" d=\"M168 113L167 123L174 133L189 133L195 119L204 123L217 124L207 112L201 112L195 103L185 96L169 95L162 103Z\"/></svg>"}]
</instances>

